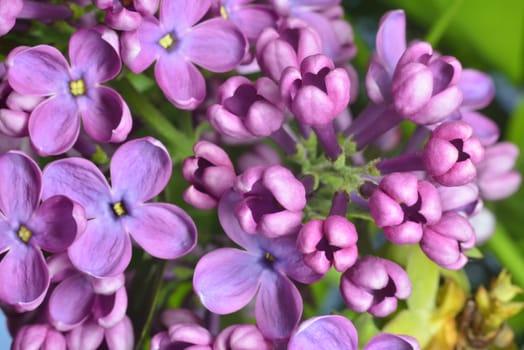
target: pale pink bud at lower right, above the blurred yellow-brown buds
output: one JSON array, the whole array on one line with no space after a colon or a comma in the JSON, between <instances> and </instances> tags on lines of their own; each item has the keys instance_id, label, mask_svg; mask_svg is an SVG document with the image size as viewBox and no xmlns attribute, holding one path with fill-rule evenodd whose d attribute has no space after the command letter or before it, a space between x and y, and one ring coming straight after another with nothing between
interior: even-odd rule
<instances>
[{"instance_id":1,"label":"pale pink bud at lower right, above the blurred yellow-brown buds","mask_svg":"<svg viewBox=\"0 0 524 350\"><path fill-rule=\"evenodd\" d=\"M468 261L464 251L475 245L475 231L468 220L455 212L446 212L440 221L424 228L420 247L440 266L461 269Z\"/></svg>"}]
</instances>

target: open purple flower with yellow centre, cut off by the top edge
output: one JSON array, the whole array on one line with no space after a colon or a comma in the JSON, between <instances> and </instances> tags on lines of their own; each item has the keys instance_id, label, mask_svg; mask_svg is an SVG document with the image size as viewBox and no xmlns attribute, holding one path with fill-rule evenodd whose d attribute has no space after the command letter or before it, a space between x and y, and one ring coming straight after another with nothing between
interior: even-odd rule
<instances>
[{"instance_id":1,"label":"open purple flower with yellow centre, cut off by the top edge","mask_svg":"<svg viewBox=\"0 0 524 350\"><path fill-rule=\"evenodd\" d=\"M212 72L235 68L244 57L246 39L222 18L197 22L211 0L163 0L160 17L145 17L134 31L122 35L122 58L140 73L155 60L155 78L175 106L195 109L206 93L202 74L193 63Z\"/></svg>"}]
</instances>

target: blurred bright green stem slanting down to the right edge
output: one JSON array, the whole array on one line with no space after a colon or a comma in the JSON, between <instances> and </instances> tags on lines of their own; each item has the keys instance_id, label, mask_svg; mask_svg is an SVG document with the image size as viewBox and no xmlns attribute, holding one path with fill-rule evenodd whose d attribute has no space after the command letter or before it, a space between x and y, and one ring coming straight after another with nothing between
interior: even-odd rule
<instances>
[{"instance_id":1,"label":"blurred bright green stem slanting down to the right edge","mask_svg":"<svg viewBox=\"0 0 524 350\"><path fill-rule=\"evenodd\" d=\"M511 273L514 281L524 288L524 257L504 227L497 226L495 233L488 240L487 246Z\"/></svg>"}]
</instances>

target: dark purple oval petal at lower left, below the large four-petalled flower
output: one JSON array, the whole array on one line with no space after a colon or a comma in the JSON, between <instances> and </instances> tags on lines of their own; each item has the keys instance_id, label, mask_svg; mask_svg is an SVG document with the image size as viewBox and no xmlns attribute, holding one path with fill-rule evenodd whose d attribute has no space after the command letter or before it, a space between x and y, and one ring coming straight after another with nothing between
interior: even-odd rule
<instances>
[{"instance_id":1,"label":"dark purple oval petal at lower left, below the large four-petalled flower","mask_svg":"<svg viewBox=\"0 0 524 350\"><path fill-rule=\"evenodd\" d=\"M75 274L56 286L49 298L49 317L61 331L68 331L83 322L91 313L95 294L81 274Z\"/></svg>"}]
</instances>

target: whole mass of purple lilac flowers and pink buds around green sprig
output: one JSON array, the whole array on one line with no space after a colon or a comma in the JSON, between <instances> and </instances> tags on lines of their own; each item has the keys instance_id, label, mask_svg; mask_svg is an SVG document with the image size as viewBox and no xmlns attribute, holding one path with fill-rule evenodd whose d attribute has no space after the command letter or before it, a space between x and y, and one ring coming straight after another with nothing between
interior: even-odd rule
<instances>
[{"instance_id":1,"label":"whole mass of purple lilac flowers and pink buds around green sprig","mask_svg":"<svg viewBox=\"0 0 524 350\"><path fill-rule=\"evenodd\" d=\"M0 66L0 133L10 142L0 156L0 279L9 281L0 303L13 349L133 348L130 263L142 250L198 259L201 306L164 312L151 349L358 349L349 319L303 320L303 290L333 267L347 308L386 317L412 284L399 262L359 249L353 210L390 244L419 245L456 270L490 234L474 224L489 215L483 201L520 185L518 149L497 142L496 124L478 112L493 99L490 77L408 43L401 10L380 21L363 81L369 103L353 118L356 47L339 0L93 4L103 22L87 10L70 22L67 58L51 45L18 46ZM19 19L71 16L65 5L0 0L0 35ZM177 164L143 136L118 91L119 79L151 66L171 107L210 125L180 164L183 199L217 209L221 245L198 244L193 219L163 196ZM401 123L415 125L407 142ZM93 161L100 145L107 166ZM235 159L228 150L238 145L253 150ZM239 310L256 323L220 329L198 316ZM382 333L364 347L385 348L419 345Z\"/></svg>"}]
</instances>

